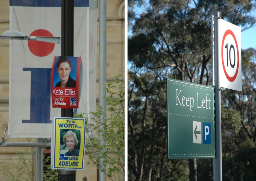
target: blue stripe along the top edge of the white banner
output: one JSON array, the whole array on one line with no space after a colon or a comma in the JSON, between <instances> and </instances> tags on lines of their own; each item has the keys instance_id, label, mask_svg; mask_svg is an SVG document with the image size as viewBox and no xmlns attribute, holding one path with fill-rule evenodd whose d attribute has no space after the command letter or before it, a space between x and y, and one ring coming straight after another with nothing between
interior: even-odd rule
<instances>
[{"instance_id":1,"label":"blue stripe along the top edge of the white banner","mask_svg":"<svg viewBox=\"0 0 256 181\"><path fill-rule=\"evenodd\" d=\"M10 0L10 6L61 7L61 0ZM74 0L74 7L89 7L89 0Z\"/></svg>"}]
</instances>

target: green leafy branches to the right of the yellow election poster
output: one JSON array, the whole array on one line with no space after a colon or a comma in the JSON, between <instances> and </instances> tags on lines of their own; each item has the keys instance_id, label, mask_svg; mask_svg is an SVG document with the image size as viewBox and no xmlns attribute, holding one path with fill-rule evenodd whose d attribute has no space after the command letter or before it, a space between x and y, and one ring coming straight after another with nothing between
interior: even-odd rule
<instances>
[{"instance_id":1,"label":"green leafy branches to the right of the yellow election poster","mask_svg":"<svg viewBox=\"0 0 256 181\"><path fill-rule=\"evenodd\" d=\"M104 115L104 110L99 107L96 112L89 112L89 116L84 117L89 135L86 138L86 153L90 159L87 164L92 163L111 180L124 180L125 170L125 89L120 76L115 76L115 84L106 84L108 96L105 99L110 116ZM77 114L75 117L83 115Z\"/></svg>"}]
</instances>

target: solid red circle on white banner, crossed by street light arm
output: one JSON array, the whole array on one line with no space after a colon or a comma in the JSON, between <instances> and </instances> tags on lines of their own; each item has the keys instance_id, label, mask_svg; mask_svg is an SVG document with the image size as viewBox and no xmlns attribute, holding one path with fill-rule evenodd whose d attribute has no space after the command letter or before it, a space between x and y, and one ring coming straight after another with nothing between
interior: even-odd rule
<instances>
[{"instance_id":1,"label":"solid red circle on white banner, crossed by street light arm","mask_svg":"<svg viewBox=\"0 0 256 181\"><path fill-rule=\"evenodd\" d=\"M53 37L52 33L47 30L39 29L33 31L30 36L50 36ZM55 47L55 43L48 43L43 41L35 41L29 40L28 41L28 48L32 54L39 57L44 57L52 53Z\"/></svg>"}]
</instances>

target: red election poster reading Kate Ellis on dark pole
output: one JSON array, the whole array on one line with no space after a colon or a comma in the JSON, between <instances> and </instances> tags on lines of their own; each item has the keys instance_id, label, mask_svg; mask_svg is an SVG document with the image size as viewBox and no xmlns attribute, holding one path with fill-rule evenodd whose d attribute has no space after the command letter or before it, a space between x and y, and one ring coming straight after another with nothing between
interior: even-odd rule
<instances>
[{"instance_id":1,"label":"red election poster reading Kate Ellis on dark pole","mask_svg":"<svg viewBox=\"0 0 256 181\"><path fill-rule=\"evenodd\" d=\"M81 57L57 56L51 75L53 108L78 108Z\"/></svg>"}]
</instances>

